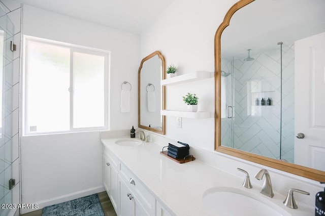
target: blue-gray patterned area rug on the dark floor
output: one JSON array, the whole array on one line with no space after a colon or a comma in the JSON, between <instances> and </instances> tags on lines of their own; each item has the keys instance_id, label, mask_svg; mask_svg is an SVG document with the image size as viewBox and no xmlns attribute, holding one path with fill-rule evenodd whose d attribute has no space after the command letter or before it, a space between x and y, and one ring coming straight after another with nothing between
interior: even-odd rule
<instances>
[{"instance_id":1,"label":"blue-gray patterned area rug on the dark floor","mask_svg":"<svg viewBox=\"0 0 325 216\"><path fill-rule=\"evenodd\" d=\"M43 208L42 216L104 216L97 194Z\"/></svg>"}]
</instances>

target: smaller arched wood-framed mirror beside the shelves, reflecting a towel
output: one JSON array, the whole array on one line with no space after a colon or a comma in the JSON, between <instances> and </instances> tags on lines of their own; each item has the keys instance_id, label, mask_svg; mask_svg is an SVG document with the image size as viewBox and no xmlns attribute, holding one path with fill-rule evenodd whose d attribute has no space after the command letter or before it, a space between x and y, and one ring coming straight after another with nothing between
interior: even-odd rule
<instances>
[{"instance_id":1,"label":"smaller arched wood-framed mirror beside the shelves, reflecting a towel","mask_svg":"<svg viewBox=\"0 0 325 216\"><path fill-rule=\"evenodd\" d=\"M142 59L138 71L138 127L158 134L166 134L166 88L160 85L165 79L165 57L155 51Z\"/></svg>"}]
</instances>

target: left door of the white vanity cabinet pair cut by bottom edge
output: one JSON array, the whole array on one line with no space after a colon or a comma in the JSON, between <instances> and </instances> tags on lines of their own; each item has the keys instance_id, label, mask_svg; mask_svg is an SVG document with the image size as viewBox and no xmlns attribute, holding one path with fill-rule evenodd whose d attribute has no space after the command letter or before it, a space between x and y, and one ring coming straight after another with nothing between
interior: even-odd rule
<instances>
[{"instance_id":1,"label":"left door of the white vanity cabinet pair cut by bottom edge","mask_svg":"<svg viewBox=\"0 0 325 216\"><path fill-rule=\"evenodd\" d=\"M123 180L118 178L119 185L119 216L135 216L135 202L131 190ZM131 199L130 199L131 197Z\"/></svg>"}]
</instances>

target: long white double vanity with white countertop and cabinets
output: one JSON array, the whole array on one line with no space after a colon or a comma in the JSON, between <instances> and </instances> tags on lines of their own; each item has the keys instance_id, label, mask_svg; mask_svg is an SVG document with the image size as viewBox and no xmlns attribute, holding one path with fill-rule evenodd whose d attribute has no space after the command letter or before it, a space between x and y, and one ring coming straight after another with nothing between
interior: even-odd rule
<instances>
[{"instance_id":1,"label":"long white double vanity with white countertop and cabinets","mask_svg":"<svg viewBox=\"0 0 325 216\"><path fill-rule=\"evenodd\" d=\"M260 193L266 176L245 188L245 175L202 162L200 150L190 149L196 160L177 163L160 154L171 140L145 134L150 142L129 138L129 131L101 133L104 185L117 215L314 215L313 206L297 202L291 209L285 195Z\"/></svg>"}]
</instances>

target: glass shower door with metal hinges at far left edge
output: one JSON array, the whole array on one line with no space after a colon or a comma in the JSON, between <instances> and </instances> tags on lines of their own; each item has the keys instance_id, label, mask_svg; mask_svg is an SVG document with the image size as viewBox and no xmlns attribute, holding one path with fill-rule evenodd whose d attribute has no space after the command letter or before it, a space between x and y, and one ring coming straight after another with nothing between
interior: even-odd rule
<instances>
[{"instance_id":1,"label":"glass shower door with metal hinges at far left edge","mask_svg":"<svg viewBox=\"0 0 325 216\"><path fill-rule=\"evenodd\" d=\"M0 204L12 203L12 87L14 25L0 8ZM0 208L0 215L7 215L9 208Z\"/></svg>"}]
</instances>

